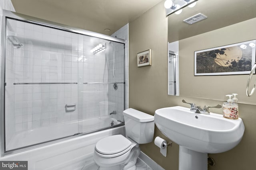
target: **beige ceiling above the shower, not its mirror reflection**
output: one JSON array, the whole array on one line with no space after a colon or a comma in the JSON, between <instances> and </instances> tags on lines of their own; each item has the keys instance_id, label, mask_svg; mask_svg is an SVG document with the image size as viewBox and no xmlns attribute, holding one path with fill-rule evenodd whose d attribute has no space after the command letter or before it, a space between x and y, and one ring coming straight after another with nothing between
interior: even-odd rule
<instances>
[{"instance_id":1,"label":"beige ceiling above the shower, not its mirror reflection","mask_svg":"<svg viewBox=\"0 0 256 170\"><path fill-rule=\"evenodd\" d=\"M18 13L111 35L162 0L11 1Z\"/></svg>"}]
</instances>

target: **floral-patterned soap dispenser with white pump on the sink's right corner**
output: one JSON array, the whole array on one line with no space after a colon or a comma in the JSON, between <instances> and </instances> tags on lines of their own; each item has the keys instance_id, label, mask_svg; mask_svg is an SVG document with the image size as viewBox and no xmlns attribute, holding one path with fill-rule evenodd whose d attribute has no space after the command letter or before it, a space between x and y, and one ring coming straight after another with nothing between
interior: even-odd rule
<instances>
[{"instance_id":1,"label":"floral-patterned soap dispenser with white pump on the sink's right corner","mask_svg":"<svg viewBox=\"0 0 256 170\"><path fill-rule=\"evenodd\" d=\"M228 96L229 99L227 102L224 102L222 105L223 117L228 119L238 119L238 104L233 103L233 100L231 99L233 95L226 95L226 96Z\"/></svg>"}]
</instances>

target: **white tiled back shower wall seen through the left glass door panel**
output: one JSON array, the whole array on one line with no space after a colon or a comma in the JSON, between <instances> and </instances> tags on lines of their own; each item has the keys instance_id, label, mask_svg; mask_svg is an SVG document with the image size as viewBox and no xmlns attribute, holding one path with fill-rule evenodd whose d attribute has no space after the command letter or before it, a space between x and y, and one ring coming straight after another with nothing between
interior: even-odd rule
<instances>
[{"instance_id":1,"label":"white tiled back shower wall seen through the left glass door panel","mask_svg":"<svg viewBox=\"0 0 256 170\"><path fill-rule=\"evenodd\" d=\"M17 23L17 37L24 45L14 49L15 82L77 82L78 53L83 53L78 51L78 35L22 21L10 22L12 27ZM76 84L14 88L16 132L78 120L77 110L65 111L66 104L78 102Z\"/></svg>"}]
</instances>

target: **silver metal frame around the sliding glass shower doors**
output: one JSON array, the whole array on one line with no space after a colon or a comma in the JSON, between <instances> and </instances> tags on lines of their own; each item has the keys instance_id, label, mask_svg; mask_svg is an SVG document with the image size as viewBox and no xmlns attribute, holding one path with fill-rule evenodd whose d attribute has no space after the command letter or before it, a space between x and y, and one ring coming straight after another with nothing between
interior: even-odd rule
<instances>
[{"instance_id":1,"label":"silver metal frame around the sliding glass shower doors","mask_svg":"<svg viewBox=\"0 0 256 170\"><path fill-rule=\"evenodd\" d=\"M63 24L59 24L59 23L55 23L52 21L47 21L47 20L42 20L39 18L34 18L31 16L26 16L23 14L18 14L16 12L11 12L11 11L7 11L7 10L3 10L3 16L2 16L2 25L1 25L1 80L0 80L0 150L1 150L1 156L5 156L5 155L9 155L9 154L13 154L13 153L17 153L17 152L21 152L24 150L28 150L28 149L34 149L36 147L41 147L41 146L45 146L45 145L50 145L52 143L56 143L60 142L60 141L64 141L64 140L68 140L68 139L72 139L74 138L74 136L72 137L63 137L60 139L54 139L52 141L46 141L45 143L39 143L39 144L35 144L35 145L30 145L28 147L24 147L21 149L14 149L14 150L8 150L6 151L5 149L5 86L6 86L6 81L5 81L5 46L6 46L6 20L10 18L13 20L18 20L18 21L24 21L27 23L33 23L36 25L42 25L42 26L46 26L46 27L50 27L50 28L54 28L54 29L59 29L59 30L63 30L63 31L68 31L71 33L78 33L81 35L88 35L88 36L92 36L92 37L97 37L100 39L105 39L105 40L109 40L109 41L114 41L117 43L122 43L125 45L125 40L124 39L119 39L116 37L111 37L108 35L104 35L104 34L100 34L100 33L95 33L92 31L87 31L84 29L78 29L75 27L71 27L68 25L63 25ZM125 54L125 52L124 52ZM124 67L125 68L125 67ZM125 87L124 87L124 101L125 101ZM124 102L124 108L125 108L125 102ZM79 115L78 115L78 120L79 120ZM117 126L122 126L124 125L124 123L121 123L120 125L116 125L114 127ZM106 129L109 128L113 128L113 127L107 127ZM100 129L99 131L104 130L104 129ZM88 132L88 133L94 133L96 131L93 132ZM88 133L81 133L81 134L75 134L77 136L80 135L86 135Z\"/></svg>"}]
</instances>

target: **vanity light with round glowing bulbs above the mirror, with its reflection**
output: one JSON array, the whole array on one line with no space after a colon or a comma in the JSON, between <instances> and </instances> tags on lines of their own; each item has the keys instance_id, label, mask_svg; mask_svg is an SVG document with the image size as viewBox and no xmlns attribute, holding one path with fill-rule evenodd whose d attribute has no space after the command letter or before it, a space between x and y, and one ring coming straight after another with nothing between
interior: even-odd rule
<instances>
[{"instance_id":1,"label":"vanity light with round glowing bulbs above the mirror, with its reflection","mask_svg":"<svg viewBox=\"0 0 256 170\"><path fill-rule=\"evenodd\" d=\"M190 8L196 5L198 0L166 0L164 2L164 7L166 8L166 16L170 14L180 14L182 8L189 6Z\"/></svg>"}]
</instances>

